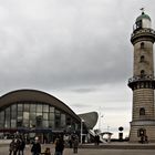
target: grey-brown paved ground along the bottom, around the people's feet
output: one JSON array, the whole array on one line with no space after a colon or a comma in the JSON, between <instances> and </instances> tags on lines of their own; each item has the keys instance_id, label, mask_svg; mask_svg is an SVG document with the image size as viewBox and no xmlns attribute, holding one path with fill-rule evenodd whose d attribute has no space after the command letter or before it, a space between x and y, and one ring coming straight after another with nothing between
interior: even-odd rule
<instances>
[{"instance_id":1,"label":"grey-brown paved ground along the bottom, around the people's feet","mask_svg":"<svg viewBox=\"0 0 155 155\"><path fill-rule=\"evenodd\" d=\"M54 152L53 146L42 145L42 151L45 147L51 147L52 153ZM31 155L31 146L27 145L24 155ZM105 148L79 148L78 155L154 155L155 149L105 149ZM9 146L0 145L0 155L9 155ZM52 154L53 155L53 154ZM63 155L73 155L72 148L65 148Z\"/></svg>"}]
</instances>

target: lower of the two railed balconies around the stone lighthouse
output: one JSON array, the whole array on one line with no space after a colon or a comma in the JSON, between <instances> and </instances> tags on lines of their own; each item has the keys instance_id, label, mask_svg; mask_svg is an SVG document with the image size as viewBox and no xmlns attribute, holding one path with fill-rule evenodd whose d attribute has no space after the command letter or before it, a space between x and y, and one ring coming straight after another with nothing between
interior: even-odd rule
<instances>
[{"instance_id":1,"label":"lower of the two railed balconies around the stone lighthouse","mask_svg":"<svg viewBox=\"0 0 155 155\"><path fill-rule=\"evenodd\" d=\"M128 86L135 89L155 89L154 75L137 75L128 79Z\"/></svg>"}]
</instances>

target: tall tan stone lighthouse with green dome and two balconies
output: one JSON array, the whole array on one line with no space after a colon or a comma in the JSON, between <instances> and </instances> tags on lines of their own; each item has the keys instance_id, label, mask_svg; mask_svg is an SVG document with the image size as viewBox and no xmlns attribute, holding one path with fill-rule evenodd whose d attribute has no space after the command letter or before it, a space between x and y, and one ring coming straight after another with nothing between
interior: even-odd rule
<instances>
[{"instance_id":1,"label":"tall tan stone lighthouse with green dome and two balconies","mask_svg":"<svg viewBox=\"0 0 155 155\"><path fill-rule=\"evenodd\" d=\"M154 54L155 31L148 14L142 9L136 18L131 35L133 44L133 76L128 86L133 91L130 142L145 140L155 142L155 78Z\"/></svg>"}]
</instances>

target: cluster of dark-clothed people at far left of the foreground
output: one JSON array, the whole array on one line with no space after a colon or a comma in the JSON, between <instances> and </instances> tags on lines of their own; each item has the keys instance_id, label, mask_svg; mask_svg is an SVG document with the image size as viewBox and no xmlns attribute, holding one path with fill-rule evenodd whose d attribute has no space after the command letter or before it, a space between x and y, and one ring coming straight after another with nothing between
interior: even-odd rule
<instances>
[{"instance_id":1,"label":"cluster of dark-clothed people at far left of the foreground","mask_svg":"<svg viewBox=\"0 0 155 155\"><path fill-rule=\"evenodd\" d=\"M9 155L23 155L25 142L23 138L13 138L10 143Z\"/></svg>"}]
</instances>

